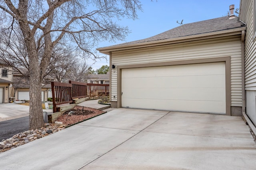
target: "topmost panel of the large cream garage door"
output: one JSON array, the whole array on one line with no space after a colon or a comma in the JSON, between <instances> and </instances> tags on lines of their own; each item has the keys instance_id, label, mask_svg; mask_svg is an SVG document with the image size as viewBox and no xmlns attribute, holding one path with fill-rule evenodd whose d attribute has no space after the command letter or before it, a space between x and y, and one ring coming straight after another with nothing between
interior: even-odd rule
<instances>
[{"instance_id":1,"label":"topmost panel of the large cream garage door","mask_svg":"<svg viewBox=\"0 0 256 170\"><path fill-rule=\"evenodd\" d=\"M198 70L200 67L200 70ZM209 69L209 67L211 69ZM157 68L157 69L156 69ZM160 68L160 69L158 69ZM136 68L129 72L122 72L122 76L125 78L144 78L144 77L162 77L162 76L176 76L176 72L179 72L180 76L198 76L198 75L218 75L223 74L225 70L224 63L204 63L202 64L187 64L177 66L159 66L159 67L147 67L147 71L144 72L145 68ZM202 70L204 70L202 72ZM212 72L212 70L215 70ZM138 72L144 72L138 74ZM163 74L164 72L164 74Z\"/></svg>"}]
</instances>

